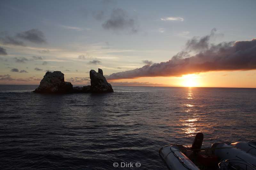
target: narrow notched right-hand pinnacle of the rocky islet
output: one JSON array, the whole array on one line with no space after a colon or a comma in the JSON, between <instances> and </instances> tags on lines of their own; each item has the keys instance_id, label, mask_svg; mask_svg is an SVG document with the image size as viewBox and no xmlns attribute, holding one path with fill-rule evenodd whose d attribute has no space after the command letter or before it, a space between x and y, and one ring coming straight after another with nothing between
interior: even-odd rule
<instances>
[{"instance_id":1,"label":"narrow notched right-hand pinnacle of the rocky islet","mask_svg":"<svg viewBox=\"0 0 256 170\"><path fill-rule=\"evenodd\" d=\"M91 79L91 92L114 92L112 86L107 82L103 76L103 71L98 69L98 73L95 70L90 71Z\"/></svg>"}]
</instances>

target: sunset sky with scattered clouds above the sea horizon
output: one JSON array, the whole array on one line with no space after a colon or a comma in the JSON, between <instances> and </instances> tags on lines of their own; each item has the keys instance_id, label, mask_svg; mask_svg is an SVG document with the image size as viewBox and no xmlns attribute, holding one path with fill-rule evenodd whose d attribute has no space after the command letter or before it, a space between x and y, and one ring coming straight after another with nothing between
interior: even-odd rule
<instances>
[{"instance_id":1,"label":"sunset sky with scattered clouds above the sea horizon","mask_svg":"<svg viewBox=\"0 0 256 170\"><path fill-rule=\"evenodd\" d=\"M256 88L256 1L0 1L0 84Z\"/></svg>"}]
</instances>

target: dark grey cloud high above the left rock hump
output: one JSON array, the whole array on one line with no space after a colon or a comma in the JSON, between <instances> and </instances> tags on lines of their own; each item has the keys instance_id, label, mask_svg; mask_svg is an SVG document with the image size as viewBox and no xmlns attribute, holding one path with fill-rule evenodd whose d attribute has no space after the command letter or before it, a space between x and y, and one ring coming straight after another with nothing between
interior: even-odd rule
<instances>
[{"instance_id":1,"label":"dark grey cloud high above the left rock hump","mask_svg":"<svg viewBox=\"0 0 256 170\"><path fill-rule=\"evenodd\" d=\"M31 29L22 33L17 33L16 36L36 44L46 43L44 33L38 29Z\"/></svg>"}]
</instances>

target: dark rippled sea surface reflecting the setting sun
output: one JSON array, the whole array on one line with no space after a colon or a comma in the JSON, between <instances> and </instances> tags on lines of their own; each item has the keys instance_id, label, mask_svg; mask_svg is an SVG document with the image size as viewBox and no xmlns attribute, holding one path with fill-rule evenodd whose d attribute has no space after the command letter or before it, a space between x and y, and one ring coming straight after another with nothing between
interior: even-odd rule
<instances>
[{"instance_id":1,"label":"dark rippled sea surface reflecting the setting sun","mask_svg":"<svg viewBox=\"0 0 256 170\"><path fill-rule=\"evenodd\" d=\"M0 169L167 169L158 150L255 140L256 89L113 87L45 95L0 85ZM139 168L113 167L140 162Z\"/></svg>"}]
</instances>

